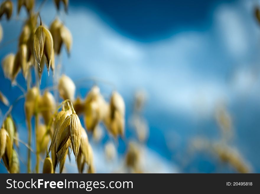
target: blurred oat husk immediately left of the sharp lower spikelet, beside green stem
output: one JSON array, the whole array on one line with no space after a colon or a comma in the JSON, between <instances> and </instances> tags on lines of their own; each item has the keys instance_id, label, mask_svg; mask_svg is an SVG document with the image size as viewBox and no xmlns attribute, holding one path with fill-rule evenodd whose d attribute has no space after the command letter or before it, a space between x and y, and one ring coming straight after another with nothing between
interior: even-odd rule
<instances>
[{"instance_id":1,"label":"blurred oat husk immediately left of the sharp lower spikelet, beside green stem","mask_svg":"<svg viewBox=\"0 0 260 194\"><path fill-rule=\"evenodd\" d=\"M37 152L44 153L46 152L46 148L48 146L50 136L46 133L47 127L46 125L38 125L36 129L36 143L37 143Z\"/></svg>"}]
</instances>

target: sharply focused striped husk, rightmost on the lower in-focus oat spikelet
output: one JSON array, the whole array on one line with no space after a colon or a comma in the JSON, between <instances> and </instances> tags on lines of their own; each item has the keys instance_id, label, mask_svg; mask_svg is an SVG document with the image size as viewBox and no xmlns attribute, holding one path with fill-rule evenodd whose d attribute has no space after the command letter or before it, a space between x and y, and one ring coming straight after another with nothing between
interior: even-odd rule
<instances>
[{"instance_id":1,"label":"sharply focused striped husk, rightmost on the lower in-focus oat spikelet","mask_svg":"<svg viewBox=\"0 0 260 194\"><path fill-rule=\"evenodd\" d=\"M79 117L78 115L76 115L76 113L72 113L71 115L69 132L70 132L72 150L75 155L75 159L77 161L80 139L81 139L81 124L80 124Z\"/></svg>"}]
</instances>

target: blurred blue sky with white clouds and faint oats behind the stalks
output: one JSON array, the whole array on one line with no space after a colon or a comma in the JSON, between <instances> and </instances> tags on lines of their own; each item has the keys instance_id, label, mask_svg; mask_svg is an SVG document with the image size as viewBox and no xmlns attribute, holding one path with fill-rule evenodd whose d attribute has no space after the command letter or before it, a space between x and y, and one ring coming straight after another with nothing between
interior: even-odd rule
<instances>
[{"instance_id":1,"label":"blurred blue sky with white clouds and faint oats behind the stalks","mask_svg":"<svg viewBox=\"0 0 260 194\"><path fill-rule=\"evenodd\" d=\"M13 2L12 19L1 19L1 60L17 51L22 29ZM129 141L139 142L142 172L260 173L258 6L258 0L69 2L68 14L61 11L59 17L73 45L69 57L63 48L61 72L75 82L79 97L97 79L106 99L116 89L126 103L124 139L112 140L102 125L98 140L88 134L97 173L124 172ZM57 16L53 1L46 1L40 14L49 26ZM25 16L22 9L19 18ZM0 77L0 90L12 104L22 92L4 79L2 69ZM26 88L21 74L17 82ZM45 69L41 89L52 84ZM138 99L144 102L141 135L133 116ZM14 105L12 115L26 142L23 103ZM8 107L0 108L2 121ZM110 161L109 142L117 153ZM26 153L20 145L21 172ZM3 165L0 172L6 173ZM66 161L66 173L73 172L74 159Z\"/></svg>"}]
</instances>

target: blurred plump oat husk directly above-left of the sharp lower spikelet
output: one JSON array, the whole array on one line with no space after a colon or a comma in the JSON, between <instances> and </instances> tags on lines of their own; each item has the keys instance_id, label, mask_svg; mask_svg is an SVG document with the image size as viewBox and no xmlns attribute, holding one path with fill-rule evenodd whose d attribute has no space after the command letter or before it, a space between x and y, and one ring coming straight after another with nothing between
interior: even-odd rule
<instances>
[{"instance_id":1,"label":"blurred plump oat husk directly above-left of the sharp lower spikelet","mask_svg":"<svg viewBox=\"0 0 260 194\"><path fill-rule=\"evenodd\" d=\"M56 108L56 102L51 92L45 90L42 97L39 98L39 110L43 116L45 125L48 125L52 119L53 112Z\"/></svg>"}]
</instances>

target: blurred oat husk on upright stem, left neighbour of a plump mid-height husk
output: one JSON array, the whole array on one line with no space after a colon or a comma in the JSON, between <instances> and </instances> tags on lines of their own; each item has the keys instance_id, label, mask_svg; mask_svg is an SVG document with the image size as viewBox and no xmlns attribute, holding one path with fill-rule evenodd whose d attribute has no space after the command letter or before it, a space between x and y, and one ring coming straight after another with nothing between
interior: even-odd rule
<instances>
[{"instance_id":1,"label":"blurred oat husk on upright stem, left neighbour of a plump mid-height husk","mask_svg":"<svg viewBox=\"0 0 260 194\"><path fill-rule=\"evenodd\" d=\"M38 104L40 92L37 87L32 87L27 91L25 97L25 116L27 122L31 120L32 115L35 113L36 105Z\"/></svg>"}]
</instances>

